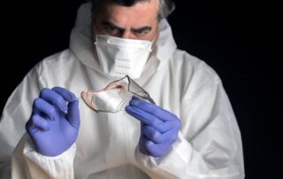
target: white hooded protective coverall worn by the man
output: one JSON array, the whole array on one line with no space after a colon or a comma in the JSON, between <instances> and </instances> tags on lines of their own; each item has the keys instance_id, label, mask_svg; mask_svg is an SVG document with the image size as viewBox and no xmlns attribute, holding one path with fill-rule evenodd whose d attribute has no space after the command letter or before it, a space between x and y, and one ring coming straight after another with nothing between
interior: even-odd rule
<instances>
[{"instance_id":1,"label":"white hooded protective coverall worn by the man","mask_svg":"<svg viewBox=\"0 0 283 179\"><path fill-rule=\"evenodd\" d=\"M157 49L135 81L179 117L172 150L159 158L143 155L137 146L140 121L126 112L94 113L80 101L76 143L56 157L35 152L25 123L42 88L59 86L79 96L113 80L94 52L90 7L80 6L70 49L34 66L9 97L0 123L0 178L243 178L241 133L221 80L202 60L176 49L165 19Z\"/></svg>"}]
</instances>

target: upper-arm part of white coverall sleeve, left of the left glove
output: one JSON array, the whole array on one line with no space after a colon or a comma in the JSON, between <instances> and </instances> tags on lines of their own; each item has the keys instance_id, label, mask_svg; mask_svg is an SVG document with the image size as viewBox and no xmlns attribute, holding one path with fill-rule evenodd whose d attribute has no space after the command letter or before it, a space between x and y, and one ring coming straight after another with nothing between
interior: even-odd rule
<instances>
[{"instance_id":1,"label":"upper-arm part of white coverall sleeve, left of the left glove","mask_svg":"<svg viewBox=\"0 0 283 179\"><path fill-rule=\"evenodd\" d=\"M11 178L11 154L25 133L33 99L42 88L40 70L39 66L30 70L4 106L0 121L0 178Z\"/></svg>"}]
</instances>

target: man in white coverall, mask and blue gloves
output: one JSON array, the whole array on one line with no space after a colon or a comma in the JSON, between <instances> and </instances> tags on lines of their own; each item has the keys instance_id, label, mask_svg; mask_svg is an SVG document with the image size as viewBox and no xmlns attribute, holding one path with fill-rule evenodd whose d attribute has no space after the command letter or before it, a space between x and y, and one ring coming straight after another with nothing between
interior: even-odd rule
<instances>
[{"instance_id":1,"label":"man in white coverall, mask and blue gloves","mask_svg":"<svg viewBox=\"0 0 283 179\"><path fill-rule=\"evenodd\" d=\"M70 49L35 66L5 106L2 175L18 144L13 178L243 178L226 92L209 66L176 49L164 19L172 7L164 0L82 5ZM156 105L133 97L125 111L94 113L79 103L81 90L125 75Z\"/></svg>"}]
</instances>

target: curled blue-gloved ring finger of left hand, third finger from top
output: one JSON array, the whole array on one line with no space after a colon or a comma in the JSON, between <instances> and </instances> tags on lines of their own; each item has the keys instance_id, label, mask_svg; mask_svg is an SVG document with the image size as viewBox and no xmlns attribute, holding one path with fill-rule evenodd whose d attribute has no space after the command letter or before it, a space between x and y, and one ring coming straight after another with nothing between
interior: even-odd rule
<instances>
[{"instance_id":1,"label":"curled blue-gloved ring finger of left hand, third finger from top","mask_svg":"<svg viewBox=\"0 0 283 179\"><path fill-rule=\"evenodd\" d=\"M54 121L57 112L53 105L50 105L48 102L39 97L34 99L33 113L37 115L42 115L43 113L51 121Z\"/></svg>"}]
</instances>

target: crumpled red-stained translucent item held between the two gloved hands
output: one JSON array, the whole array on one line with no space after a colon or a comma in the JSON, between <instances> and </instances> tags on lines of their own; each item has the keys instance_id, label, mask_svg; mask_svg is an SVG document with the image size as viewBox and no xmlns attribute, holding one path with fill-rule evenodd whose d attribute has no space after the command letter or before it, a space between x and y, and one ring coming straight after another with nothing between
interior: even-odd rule
<instances>
[{"instance_id":1,"label":"crumpled red-stained translucent item held between the two gloved hands","mask_svg":"<svg viewBox=\"0 0 283 179\"><path fill-rule=\"evenodd\" d=\"M149 93L128 75L109 83L103 90L83 90L80 94L86 105L96 113L118 113L124 111L133 96L155 104Z\"/></svg>"}]
</instances>

